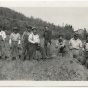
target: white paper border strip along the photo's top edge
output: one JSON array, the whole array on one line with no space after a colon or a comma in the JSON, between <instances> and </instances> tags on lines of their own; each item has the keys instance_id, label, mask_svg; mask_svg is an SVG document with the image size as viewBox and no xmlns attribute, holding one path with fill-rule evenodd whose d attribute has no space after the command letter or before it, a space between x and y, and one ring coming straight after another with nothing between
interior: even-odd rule
<instances>
[{"instance_id":1,"label":"white paper border strip along the photo's top edge","mask_svg":"<svg viewBox=\"0 0 88 88\"><path fill-rule=\"evenodd\" d=\"M88 1L0 0L0 7L88 7Z\"/></svg>"}]
</instances>

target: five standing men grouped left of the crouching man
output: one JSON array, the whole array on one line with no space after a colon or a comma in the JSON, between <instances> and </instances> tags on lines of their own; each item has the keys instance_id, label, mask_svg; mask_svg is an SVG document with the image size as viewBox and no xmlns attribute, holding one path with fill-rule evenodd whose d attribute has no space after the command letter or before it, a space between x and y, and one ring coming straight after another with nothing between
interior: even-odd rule
<instances>
[{"instance_id":1,"label":"five standing men grouped left of the crouching man","mask_svg":"<svg viewBox=\"0 0 88 88\"><path fill-rule=\"evenodd\" d=\"M1 27L0 27L1 28ZM0 43L5 44L6 34L2 29L0 30L1 41ZM30 60L34 59L36 55L36 51L40 51L42 55L42 59L50 58L50 45L51 45L51 37L52 32L48 27L45 27L43 40L44 40L44 47L40 44L40 36L37 33L36 27L26 26L26 30L22 34L22 38L20 33L18 32L17 27L13 27L13 32L10 34L9 37L9 45L11 51L11 58L12 60L21 57L23 60ZM1 58L2 58L2 47L3 44L0 44L1 48ZM19 54L19 50L22 45L22 53Z\"/></svg>"}]
</instances>

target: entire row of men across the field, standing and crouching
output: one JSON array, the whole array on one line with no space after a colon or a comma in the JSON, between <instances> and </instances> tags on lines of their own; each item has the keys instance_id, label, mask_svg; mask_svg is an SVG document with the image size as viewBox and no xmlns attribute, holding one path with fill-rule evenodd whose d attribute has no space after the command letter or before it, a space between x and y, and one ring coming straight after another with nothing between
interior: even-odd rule
<instances>
[{"instance_id":1,"label":"entire row of men across the field, standing and crouching","mask_svg":"<svg viewBox=\"0 0 88 88\"><path fill-rule=\"evenodd\" d=\"M51 39L52 39L52 31L49 27L45 27L43 41L44 47L40 46L40 37L37 33L37 28L32 28L30 26L26 27L26 31L22 35L22 47L23 47L23 59L33 59L35 58L36 50L40 51L42 54L42 59L50 58L50 46L51 46ZM6 34L0 28L0 48L1 54L3 51L3 45L5 44ZM2 44L3 43L3 44ZM10 49L12 58L16 58L18 56L19 47L21 44L21 37L18 33L18 28L14 27L13 32L10 35L9 39ZM59 35L56 41L56 49L57 55L63 54L64 49L66 47L66 40L63 38L63 35ZM74 37L69 41L69 48L70 52L73 57L78 57L80 51L85 51L85 57L88 57L88 35L86 36L86 42L82 44L82 41L79 39L79 35L77 33L74 34ZM2 56L2 55L1 55Z\"/></svg>"}]
</instances>

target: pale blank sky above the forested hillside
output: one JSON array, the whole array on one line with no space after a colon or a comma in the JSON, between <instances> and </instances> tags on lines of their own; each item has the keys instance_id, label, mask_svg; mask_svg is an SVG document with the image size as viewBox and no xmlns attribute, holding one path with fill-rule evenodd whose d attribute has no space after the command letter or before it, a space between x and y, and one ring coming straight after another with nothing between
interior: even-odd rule
<instances>
[{"instance_id":1,"label":"pale blank sky above the forested hillside","mask_svg":"<svg viewBox=\"0 0 88 88\"><path fill-rule=\"evenodd\" d=\"M41 18L55 25L70 24L74 30L88 29L88 7L9 7L27 17Z\"/></svg>"}]
</instances>

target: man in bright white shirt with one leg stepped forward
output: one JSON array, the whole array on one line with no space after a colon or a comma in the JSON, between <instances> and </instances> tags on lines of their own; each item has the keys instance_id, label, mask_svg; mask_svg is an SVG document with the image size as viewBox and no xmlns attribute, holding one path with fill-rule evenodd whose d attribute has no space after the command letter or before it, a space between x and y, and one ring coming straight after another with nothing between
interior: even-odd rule
<instances>
[{"instance_id":1,"label":"man in bright white shirt with one leg stepped forward","mask_svg":"<svg viewBox=\"0 0 88 88\"><path fill-rule=\"evenodd\" d=\"M28 37L28 41L30 43L29 49L29 57L30 59L34 59L36 55L36 50L40 51L42 54L42 59L46 58L45 50L43 47L40 46L40 38L37 34L37 28L33 28L33 33L31 33Z\"/></svg>"}]
</instances>

